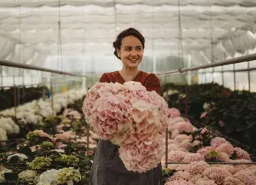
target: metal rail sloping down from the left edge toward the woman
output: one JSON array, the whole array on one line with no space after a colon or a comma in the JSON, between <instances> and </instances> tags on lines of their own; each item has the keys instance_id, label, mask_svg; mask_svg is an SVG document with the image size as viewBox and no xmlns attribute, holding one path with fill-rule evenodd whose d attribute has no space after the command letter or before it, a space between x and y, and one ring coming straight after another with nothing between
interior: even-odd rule
<instances>
[{"instance_id":1,"label":"metal rail sloping down from the left edge toward the woman","mask_svg":"<svg viewBox=\"0 0 256 185\"><path fill-rule=\"evenodd\" d=\"M60 70L50 70L50 69L47 69L44 67L32 66L29 64L19 64L19 63L13 62L13 61L6 61L6 60L1 60L1 59L0 59L0 66L17 67L17 68L26 69L26 70L39 70L39 71L44 71L44 72L49 72L49 73L57 73L57 74L69 75L69 76L88 77L85 75L78 75L75 73L67 73L67 72L62 72Z\"/></svg>"}]
</instances>

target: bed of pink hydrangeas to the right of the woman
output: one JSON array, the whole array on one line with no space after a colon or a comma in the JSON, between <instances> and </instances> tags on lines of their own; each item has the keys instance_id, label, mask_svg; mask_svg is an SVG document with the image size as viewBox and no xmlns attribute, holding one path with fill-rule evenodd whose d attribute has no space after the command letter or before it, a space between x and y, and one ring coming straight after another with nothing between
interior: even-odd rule
<instances>
[{"instance_id":1,"label":"bed of pink hydrangeas to the right of the woman","mask_svg":"<svg viewBox=\"0 0 256 185\"><path fill-rule=\"evenodd\" d=\"M168 130L168 162L184 164L169 164L163 169L165 185L256 184L256 166L246 165L251 163L251 154L215 136L210 127L197 129L184 118L176 117L169 121ZM231 164L218 164L221 162ZM164 157L162 165L165 166Z\"/></svg>"}]
</instances>

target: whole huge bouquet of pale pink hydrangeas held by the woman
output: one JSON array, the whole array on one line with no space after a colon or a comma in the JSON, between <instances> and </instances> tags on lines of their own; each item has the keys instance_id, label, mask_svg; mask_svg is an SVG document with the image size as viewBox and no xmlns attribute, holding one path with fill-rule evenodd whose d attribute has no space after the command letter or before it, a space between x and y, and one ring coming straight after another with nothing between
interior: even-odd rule
<instances>
[{"instance_id":1,"label":"whole huge bouquet of pale pink hydrangeas held by the woman","mask_svg":"<svg viewBox=\"0 0 256 185\"><path fill-rule=\"evenodd\" d=\"M160 163L168 105L155 91L147 91L140 82L96 83L83 112L99 137L120 146L126 169L146 172Z\"/></svg>"}]
</instances>

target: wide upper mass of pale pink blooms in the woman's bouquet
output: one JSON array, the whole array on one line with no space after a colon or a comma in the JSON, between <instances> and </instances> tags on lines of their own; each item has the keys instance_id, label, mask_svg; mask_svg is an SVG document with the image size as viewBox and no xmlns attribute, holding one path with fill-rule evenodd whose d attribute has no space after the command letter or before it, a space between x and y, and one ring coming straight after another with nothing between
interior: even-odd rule
<instances>
[{"instance_id":1,"label":"wide upper mass of pale pink blooms in the woman's bouquet","mask_svg":"<svg viewBox=\"0 0 256 185\"><path fill-rule=\"evenodd\" d=\"M140 82L96 84L90 88L83 106L94 133L117 145L131 139L130 134L143 138L162 132L168 122L167 110L163 97L146 91Z\"/></svg>"}]
</instances>

